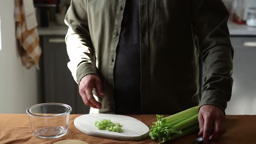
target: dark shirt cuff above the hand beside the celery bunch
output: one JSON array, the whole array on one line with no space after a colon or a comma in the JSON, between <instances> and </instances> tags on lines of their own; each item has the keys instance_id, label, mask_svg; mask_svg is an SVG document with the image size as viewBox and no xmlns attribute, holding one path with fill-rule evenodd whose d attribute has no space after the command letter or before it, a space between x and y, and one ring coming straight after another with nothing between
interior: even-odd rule
<instances>
[{"instance_id":1,"label":"dark shirt cuff above the hand beside the celery bunch","mask_svg":"<svg viewBox=\"0 0 256 144\"><path fill-rule=\"evenodd\" d=\"M217 90L205 91L202 94L202 98L199 103L199 109L203 105L214 105L220 108L224 112L224 114L226 114L226 103L226 95L224 95L223 93L218 92Z\"/></svg>"}]
</instances>

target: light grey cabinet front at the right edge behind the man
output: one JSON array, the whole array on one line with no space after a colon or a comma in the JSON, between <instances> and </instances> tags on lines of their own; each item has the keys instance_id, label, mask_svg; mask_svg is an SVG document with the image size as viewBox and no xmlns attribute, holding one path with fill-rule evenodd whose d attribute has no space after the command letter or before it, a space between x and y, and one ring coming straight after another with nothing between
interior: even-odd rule
<instances>
[{"instance_id":1,"label":"light grey cabinet front at the right edge behind the man","mask_svg":"<svg viewBox=\"0 0 256 144\"><path fill-rule=\"evenodd\" d=\"M227 115L256 114L256 36L231 36L234 48L233 91ZM251 46L245 46L245 45ZM253 46L254 45L254 46Z\"/></svg>"}]
</instances>

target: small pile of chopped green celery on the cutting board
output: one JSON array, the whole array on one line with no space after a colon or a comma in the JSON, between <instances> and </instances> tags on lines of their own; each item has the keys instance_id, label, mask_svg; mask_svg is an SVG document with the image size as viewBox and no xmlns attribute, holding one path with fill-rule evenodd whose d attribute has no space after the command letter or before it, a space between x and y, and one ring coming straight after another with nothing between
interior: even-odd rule
<instances>
[{"instance_id":1,"label":"small pile of chopped green celery on the cutting board","mask_svg":"<svg viewBox=\"0 0 256 144\"><path fill-rule=\"evenodd\" d=\"M107 129L108 131L121 132L121 125L119 123L112 123L111 120L103 119L102 121L95 121L94 125L99 130Z\"/></svg>"}]
</instances>

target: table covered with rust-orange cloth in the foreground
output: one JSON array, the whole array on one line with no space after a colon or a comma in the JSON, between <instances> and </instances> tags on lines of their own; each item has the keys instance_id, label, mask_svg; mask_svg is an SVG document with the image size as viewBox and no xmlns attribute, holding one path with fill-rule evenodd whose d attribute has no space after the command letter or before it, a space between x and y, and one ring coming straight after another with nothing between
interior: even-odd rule
<instances>
[{"instance_id":1,"label":"table covered with rust-orange cloth in the foreground","mask_svg":"<svg viewBox=\"0 0 256 144\"><path fill-rule=\"evenodd\" d=\"M144 141L115 141L83 134L74 126L74 119L80 115L70 115L69 131L63 137L56 139L41 139L35 137L30 129L30 121L26 114L0 114L0 144L53 144L57 141L77 139L89 144L158 144L148 137ZM156 121L155 115L129 115L150 126ZM227 131L217 141L209 144L256 144L256 115L226 116ZM166 144L190 144L197 133L190 134Z\"/></svg>"}]
</instances>

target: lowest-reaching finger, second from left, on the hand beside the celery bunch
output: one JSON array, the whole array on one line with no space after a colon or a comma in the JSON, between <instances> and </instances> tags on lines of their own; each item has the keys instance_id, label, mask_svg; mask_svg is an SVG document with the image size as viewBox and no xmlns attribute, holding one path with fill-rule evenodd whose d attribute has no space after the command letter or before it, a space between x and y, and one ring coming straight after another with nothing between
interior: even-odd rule
<instances>
[{"instance_id":1,"label":"lowest-reaching finger, second from left, on the hand beside the celery bunch","mask_svg":"<svg viewBox=\"0 0 256 144\"><path fill-rule=\"evenodd\" d=\"M203 142L208 143L210 133L212 131L213 127L213 122L212 120L208 117L204 117L204 124L203 124Z\"/></svg>"}]
</instances>

